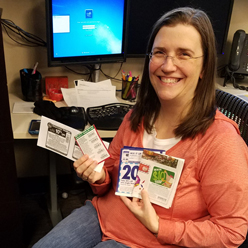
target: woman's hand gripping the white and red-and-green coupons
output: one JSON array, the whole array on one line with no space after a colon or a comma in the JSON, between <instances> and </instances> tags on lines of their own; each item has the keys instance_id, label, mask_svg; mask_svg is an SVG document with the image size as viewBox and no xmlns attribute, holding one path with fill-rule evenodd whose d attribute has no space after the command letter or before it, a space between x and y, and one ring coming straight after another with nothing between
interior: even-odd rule
<instances>
[{"instance_id":1,"label":"woman's hand gripping the white and red-and-green coupons","mask_svg":"<svg viewBox=\"0 0 248 248\"><path fill-rule=\"evenodd\" d=\"M87 154L84 154L73 163L73 167L78 177L82 178L84 181L91 184L100 184L105 180L105 171L104 169L102 169L101 172L95 171L94 169L97 164L97 161L90 159Z\"/></svg>"}]
</instances>

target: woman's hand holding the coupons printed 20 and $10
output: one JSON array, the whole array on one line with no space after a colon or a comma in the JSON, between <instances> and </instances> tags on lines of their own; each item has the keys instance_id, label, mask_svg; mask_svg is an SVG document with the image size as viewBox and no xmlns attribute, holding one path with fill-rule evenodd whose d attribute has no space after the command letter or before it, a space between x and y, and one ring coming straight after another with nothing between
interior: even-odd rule
<instances>
[{"instance_id":1,"label":"woman's hand holding the coupons printed 20 and $10","mask_svg":"<svg viewBox=\"0 0 248 248\"><path fill-rule=\"evenodd\" d=\"M141 191L142 199L133 198L130 200L125 196L120 196L124 204L134 214L134 216L152 233L158 233L159 217L153 208L146 190Z\"/></svg>"}]
</instances>

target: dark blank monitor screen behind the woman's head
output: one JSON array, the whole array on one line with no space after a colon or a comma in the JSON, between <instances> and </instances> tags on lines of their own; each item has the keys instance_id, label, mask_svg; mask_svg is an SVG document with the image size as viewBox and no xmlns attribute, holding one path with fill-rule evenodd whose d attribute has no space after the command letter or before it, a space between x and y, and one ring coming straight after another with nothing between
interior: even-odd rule
<instances>
[{"instance_id":1,"label":"dark blank monitor screen behind the woman's head","mask_svg":"<svg viewBox=\"0 0 248 248\"><path fill-rule=\"evenodd\" d=\"M128 26L127 57L144 57L153 24L165 12L177 7L194 7L204 10L213 25L217 53L223 54L233 0L131 0Z\"/></svg>"}]
</instances>

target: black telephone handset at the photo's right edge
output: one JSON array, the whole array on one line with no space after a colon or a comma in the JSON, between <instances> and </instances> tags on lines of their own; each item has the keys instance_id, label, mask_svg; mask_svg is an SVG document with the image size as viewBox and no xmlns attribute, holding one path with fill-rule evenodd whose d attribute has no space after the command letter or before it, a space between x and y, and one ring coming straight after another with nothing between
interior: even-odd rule
<instances>
[{"instance_id":1,"label":"black telephone handset at the photo's right edge","mask_svg":"<svg viewBox=\"0 0 248 248\"><path fill-rule=\"evenodd\" d=\"M248 75L248 34L237 30L233 36L228 69L231 72Z\"/></svg>"}]
</instances>

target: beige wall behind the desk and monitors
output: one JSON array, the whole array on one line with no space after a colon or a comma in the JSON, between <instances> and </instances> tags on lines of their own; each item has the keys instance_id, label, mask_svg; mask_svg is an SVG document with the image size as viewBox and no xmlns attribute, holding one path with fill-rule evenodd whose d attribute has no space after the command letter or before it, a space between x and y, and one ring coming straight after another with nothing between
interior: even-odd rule
<instances>
[{"instance_id":1,"label":"beige wall behind the desk and monitors","mask_svg":"<svg viewBox=\"0 0 248 248\"><path fill-rule=\"evenodd\" d=\"M217 2L218 1L216 1L216 4ZM46 40L45 0L1 0L0 7L3 8L2 18L10 19L25 31ZM231 42L235 31L237 29L244 29L248 33L247 9L248 0L234 1L225 55L219 59L220 64L226 64L228 61ZM21 95L19 70L33 67L36 61L39 62L38 70L43 78L46 76L68 76L70 86L73 85L73 80L85 78L73 74L63 67L47 67L46 48L30 48L17 45L8 38L5 32L3 32L3 39L8 88L10 93ZM82 66L71 68L79 72L85 72L85 69ZM102 66L102 69L106 74L114 76L118 72L119 64L105 64ZM141 74L143 59L128 59L127 62L123 64L123 69L125 71L132 70L134 75ZM121 78L120 74L119 78ZM100 80L104 79L106 78L100 74ZM113 83L117 85L117 88L120 88L120 83L114 81ZM18 140L15 142L15 151L17 173L19 177L47 174L46 153L36 146L36 142ZM32 155L30 156L30 154ZM59 171L61 173L68 173L70 171L68 164L70 164L68 161L60 161L58 165Z\"/></svg>"}]
</instances>

